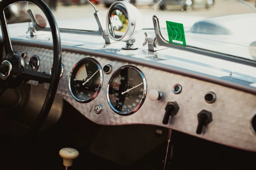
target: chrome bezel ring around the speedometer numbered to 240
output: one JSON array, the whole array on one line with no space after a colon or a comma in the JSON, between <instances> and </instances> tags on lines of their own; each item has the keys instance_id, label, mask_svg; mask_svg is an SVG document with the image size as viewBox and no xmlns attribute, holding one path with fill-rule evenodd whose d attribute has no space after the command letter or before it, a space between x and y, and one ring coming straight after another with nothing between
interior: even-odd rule
<instances>
[{"instance_id":1,"label":"chrome bezel ring around the speedometer numbered to 240","mask_svg":"<svg viewBox=\"0 0 256 170\"><path fill-rule=\"evenodd\" d=\"M143 80L143 86L144 86L144 92L143 92L143 96L142 96L142 99L141 99L140 103L137 105L137 107L135 107L133 110L131 110L131 111L129 111L129 112L122 112L122 111L119 111L119 110L115 109L114 106L112 106L112 103L111 103L110 98L109 98L109 87L110 87L110 83L111 83L113 77L114 77L119 71L121 71L122 69L125 69L125 68L131 68L131 69L136 70L136 71L140 74L140 76L141 76L141 78L142 78L142 80ZM134 67L134 66L132 66L132 65L126 65L126 66L120 67L120 68L118 68L118 69L111 75L111 78L109 79L108 86L107 86L107 100L108 100L108 104L109 104L109 106L111 107L111 109L112 109L115 113L117 113L117 114L119 114L119 115L128 116L128 115L131 115L131 114L135 113L136 111L138 111L138 110L140 109L140 107L143 105L144 101L145 101L146 94L147 94L147 82L146 82L146 78L145 78L144 74L142 73L142 71L141 71L140 69L138 69L137 67Z\"/></svg>"}]
</instances>

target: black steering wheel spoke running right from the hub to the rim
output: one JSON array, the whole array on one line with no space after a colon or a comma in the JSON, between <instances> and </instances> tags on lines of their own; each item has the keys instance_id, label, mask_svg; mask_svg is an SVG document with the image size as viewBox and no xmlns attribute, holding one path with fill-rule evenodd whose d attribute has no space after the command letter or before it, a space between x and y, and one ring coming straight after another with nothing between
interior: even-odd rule
<instances>
[{"instance_id":1,"label":"black steering wheel spoke running right from the hub to the rim","mask_svg":"<svg viewBox=\"0 0 256 170\"><path fill-rule=\"evenodd\" d=\"M29 70L26 68L21 69L21 77L24 78L25 80L35 80L35 81L40 81L45 83L51 82L51 75Z\"/></svg>"}]
</instances>

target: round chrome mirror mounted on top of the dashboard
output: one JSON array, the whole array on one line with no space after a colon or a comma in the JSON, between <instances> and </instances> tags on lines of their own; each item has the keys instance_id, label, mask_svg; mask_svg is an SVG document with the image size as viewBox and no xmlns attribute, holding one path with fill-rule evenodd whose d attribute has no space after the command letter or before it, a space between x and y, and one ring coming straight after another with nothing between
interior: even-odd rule
<instances>
[{"instance_id":1,"label":"round chrome mirror mounted on top of the dashboard","mask_svg":"<svg viewBox=\"0 0 256 170\"><path fill-rule=\"evenodd\" d=\"M109 36L115 41L128 41L143 28L140 11L124 1L114 2L107 13L106 27Z\"/></svg>"}]
</instances>

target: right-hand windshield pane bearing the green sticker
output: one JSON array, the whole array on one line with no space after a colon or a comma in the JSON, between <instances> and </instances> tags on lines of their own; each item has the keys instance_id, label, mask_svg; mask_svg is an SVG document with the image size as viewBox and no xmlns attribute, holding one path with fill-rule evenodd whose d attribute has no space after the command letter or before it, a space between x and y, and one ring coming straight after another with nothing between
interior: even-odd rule
<instances>
[{"instance_id":1,"label":"right-hand windshield pane bearing the green sticker","mask_svg":"<svg viewBox=\"0 0 256 170\"><path fill-rule=\"evenodd\" d=\"M255 11L255 1L242 0L162 0L155 7L170 43L247 59L253 59L248 47L256 40Z\"/></svg>"}]
</instances>

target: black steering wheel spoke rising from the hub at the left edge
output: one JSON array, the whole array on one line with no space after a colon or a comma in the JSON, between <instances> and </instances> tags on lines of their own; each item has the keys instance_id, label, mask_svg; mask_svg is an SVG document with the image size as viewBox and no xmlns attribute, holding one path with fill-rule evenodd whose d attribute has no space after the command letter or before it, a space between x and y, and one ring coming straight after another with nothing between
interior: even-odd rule
<instances>
[{"instance_id":1,"label":"black steering wheel spoke rising from the hub at the left edge","mask_svg":"<svg viewBox=\"0 0 256 170\"><path fill-rule=\"evenodd\" d=\"M5 53L6 55L10 53L13 54L11 40L10 40L6 18L5 18L5 13L4 13L4 9L2 8L0 8L0 25L2 28L2 35L3 35L4 44L5 44Z\"/></svg>"}]
</instances>

